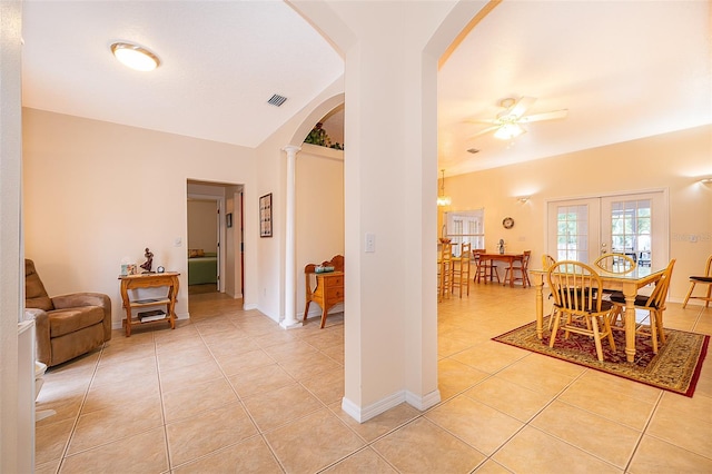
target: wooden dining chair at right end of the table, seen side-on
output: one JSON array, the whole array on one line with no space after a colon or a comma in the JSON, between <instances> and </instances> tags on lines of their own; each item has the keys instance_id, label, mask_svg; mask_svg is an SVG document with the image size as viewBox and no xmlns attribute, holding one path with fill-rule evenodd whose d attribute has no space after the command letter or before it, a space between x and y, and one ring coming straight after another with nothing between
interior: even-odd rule
<instances>
[{"instance_id":1,"label":"wooden dining chair at right end of the table, seen side-on","mask_svg":"<svg viewBox=\"0 0 712 474\"><path fill-rule=\"evenodd\" d=\"M672 278L672 269L675 266L673 258L668 264L665 271L655 280L655 288L650 295L635 296L635 309L646 310L649 314L649 324L636 322L635 334L650 336L653 339L653 353L657 354L657 342L665 344L665 332L663 330L663 312L665 310L665 302L668 300L668 290ZM611 294L611 302L615 305L612 313L611 327L613 329L625 329L625 296L621 292Z\"/></svg>"}]
</instances>

